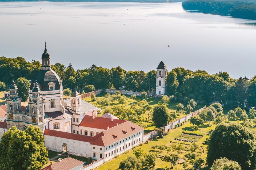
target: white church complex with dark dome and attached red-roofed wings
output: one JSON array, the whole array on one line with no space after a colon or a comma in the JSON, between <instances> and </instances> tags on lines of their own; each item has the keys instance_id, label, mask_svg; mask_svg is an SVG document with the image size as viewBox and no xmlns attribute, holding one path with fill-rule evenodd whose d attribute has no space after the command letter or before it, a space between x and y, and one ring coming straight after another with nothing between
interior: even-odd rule
<instances>
[{"instance_id":1,"label":"white church complex with dark dome and attached red-roofed wings","mask_svg":"<svg viewBox=\"0 0 256 170\"><path fill-rule=\"evenodd\" d=\"M62 80L51 69L46 46L41 70L31 80L26 109L21 106L14 80L9 90L0 138L14 125L25 130L32 124L43 131L47 149L104 162L143 142L144 128L111 115L97 117L99 108L82 100L77 90L63 100Z\"/></svg>"}]
</instances>

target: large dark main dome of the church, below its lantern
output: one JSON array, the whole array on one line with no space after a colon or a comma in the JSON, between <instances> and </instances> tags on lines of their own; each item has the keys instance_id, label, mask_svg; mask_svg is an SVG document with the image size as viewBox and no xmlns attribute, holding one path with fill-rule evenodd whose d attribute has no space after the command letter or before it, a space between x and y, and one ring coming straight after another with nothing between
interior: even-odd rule
<instances>
[{"instance_id":1,"label":"large dark main dome of the church, below its lantern","mask_svg":"<svg viewBox=\"0 0 256 170\"><path fill-rule=\"evenodd\" d=\"M55 83L54 90L60 90L60 78L52 69L51 70L40 70L37 73L37 83L41 91L50 91L49 84L50 82ZM35 79L31 80L30 90L34 88Z\"/></svg>"}]
</instances>

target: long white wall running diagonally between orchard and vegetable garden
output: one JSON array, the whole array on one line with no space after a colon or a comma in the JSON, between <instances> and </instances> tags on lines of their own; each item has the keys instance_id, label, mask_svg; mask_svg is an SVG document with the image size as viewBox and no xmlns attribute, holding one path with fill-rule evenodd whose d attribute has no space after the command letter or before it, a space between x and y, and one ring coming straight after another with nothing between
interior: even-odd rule
<instances>
[{"instance_id":1,"label":"long white wall running diagonally between orchard and vegetable garden","mask_svg":"<svg viewBox=\"0 0 256 170\"><path fill-rule=\"evenodd\" d=\"M187 120L189 120L189 118L191 116L196 116L200 111L204 110L206 107L203 107L201 109L198 109L197 111L194 111L192 113L189 113L187 114L186 116L182 117L182 118L179 118L169 124L167 124L166 126L163 126L162 128L165 130L165 131L168 131L169 129L173 129L175 127L175 125L177 125L178 123L181 123L181 122L185 122ZM143 142L149 140L149 139L152 139L152 138L155 138L157 136L157 131L156 130L153 130L145 135L143 135Z\"/></svg>"}]
</instances>

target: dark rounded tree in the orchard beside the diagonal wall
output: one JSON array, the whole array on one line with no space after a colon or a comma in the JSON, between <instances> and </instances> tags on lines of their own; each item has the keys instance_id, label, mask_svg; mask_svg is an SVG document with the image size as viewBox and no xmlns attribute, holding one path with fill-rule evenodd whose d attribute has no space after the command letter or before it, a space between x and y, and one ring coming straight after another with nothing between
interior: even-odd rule
<instances>
[{"instance_id":1,"label":"dark rounded tree in the orchard beside the diagonal wall","mask_svg":"<svg viewBox=\"0 0 256 170\"><path fill-rule=\"evenodd\" d=\"M158 104L153 109L152 120L155 123L155 126L160 128L166 126L170 122L170 114L165 105Z\"/></svg>"}]
</instances>

